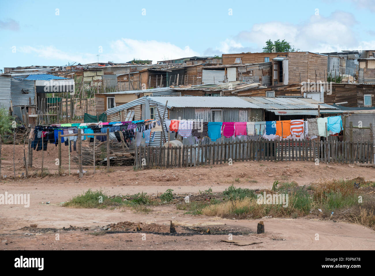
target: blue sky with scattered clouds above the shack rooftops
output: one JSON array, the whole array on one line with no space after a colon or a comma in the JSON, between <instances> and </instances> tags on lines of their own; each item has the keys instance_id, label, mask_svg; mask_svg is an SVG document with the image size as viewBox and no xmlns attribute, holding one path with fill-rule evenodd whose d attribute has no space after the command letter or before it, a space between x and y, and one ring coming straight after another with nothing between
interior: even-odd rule
<instances>
[{"instance_id":1,"label":"blue sky with scattered clouds above the shack rooftops","mask_svg":"<svg viewBox=\"0 0 375 276\"><path fill-rule=\"evenodd\" d=\"M262 52L268 39L375 49L374 17L375 0L0 0L0 69Z\"/></svg>"}]
</instances>

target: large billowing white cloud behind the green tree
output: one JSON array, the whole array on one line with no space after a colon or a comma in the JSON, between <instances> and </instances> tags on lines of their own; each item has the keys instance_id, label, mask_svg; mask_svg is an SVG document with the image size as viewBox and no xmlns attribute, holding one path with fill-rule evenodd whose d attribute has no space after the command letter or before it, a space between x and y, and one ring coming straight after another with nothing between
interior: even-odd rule
<instances>
[{"instance_id":1,"label":"large billowing white cloud behind the green tree","mask_svg":"<svg viewBox=\"0 0 375 276\"><path fill-rule=\"evenodd\" d=\"M225 52L262 52L266 41L277 39L290 42L301 51L334 52L374 48L374 42L360 41L354 26L356 19L351 13L335 11L330 16L312 15L300 24L271 21L254 24L249 31L241 31L233 37L234 42L228 45L228 39L220 42L219 49ZM228 45L228 47L222 47ZM232 47L231 45L236 45ZM247 47L238 47L246 45Z\"/></svg>"}]
</instances>

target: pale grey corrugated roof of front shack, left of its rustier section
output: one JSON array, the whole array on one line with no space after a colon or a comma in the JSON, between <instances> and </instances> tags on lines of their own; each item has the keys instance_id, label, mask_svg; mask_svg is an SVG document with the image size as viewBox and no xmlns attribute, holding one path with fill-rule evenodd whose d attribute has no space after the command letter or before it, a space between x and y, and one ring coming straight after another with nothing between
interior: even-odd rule
<instances>
[{"instance_id":1,"label":"pale grey corrugated roof of front shack, left of its rustier section","mask_svg":"<svg viewBox=\"0 0 375 276\"><path fill-rule=\"evenodd\" d=\"M164 104L168 101L168 108L172 107L210 107L210 108L260 108L258 105L247 102L241 97L222 96L222 97L206 97L206 96L158 96L147 97L150 101Z\"/></svg>"}]
</instances>

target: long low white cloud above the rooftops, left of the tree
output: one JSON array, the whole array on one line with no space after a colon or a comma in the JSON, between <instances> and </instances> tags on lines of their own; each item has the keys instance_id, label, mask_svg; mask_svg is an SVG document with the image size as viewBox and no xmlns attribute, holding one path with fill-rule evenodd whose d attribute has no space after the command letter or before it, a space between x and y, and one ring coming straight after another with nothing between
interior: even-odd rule
<instances>
[{"instance_id":1,"label":"long low white cloud above the rooftops, left of the tree","mask_svg":"<svg viewBox=\"0 0 375 276\"><path fill-rule=\"evenodd\" d=\"M47 60L62 61L64 64L68 61L77 63L93 63L97 60L96 53L72 53L57 49L55 46L20 46L17 51L26 54L35 54L37 57ZM189 46L180 48L169 42L158 42L156 40L135 40L135 39L118 39L110 43L109 52L105 47L103 52L99 53L99 62L128 62L133 58L142 60L152 60L156 63L158 60L167 60L181 57L191 57L199 55L198 52L190 49Z\"/></svg>"}]
</instances>

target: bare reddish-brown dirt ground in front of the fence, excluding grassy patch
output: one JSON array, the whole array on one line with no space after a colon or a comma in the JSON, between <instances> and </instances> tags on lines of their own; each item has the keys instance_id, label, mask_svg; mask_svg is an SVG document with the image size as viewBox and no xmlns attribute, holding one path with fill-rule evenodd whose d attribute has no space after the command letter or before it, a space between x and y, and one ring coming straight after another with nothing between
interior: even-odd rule
<instances>
[{"instance_id":1,"label":"bare reddish-brown dirt ground in front of the fence, excluding grassy patch","mask_svg":"<svg viewBox=\"0 0 375 276\"><path fill-rule=\"evenodd\" d=\"M84 166L86 173L78 178L77 164L72 163L68 175L68 150L63 146L65 176L57 172L57 148L48 144L44 152L44 166L49 175L22 177L23 145L16 145L13 179L13 145L3 145L1 151L0 193L30 194L30 207L23 205L0 206L0 249L153 249L153 250L277 250L277 249L374 249L375 232L361 225L322 221L317 217L297 219L263 219L265 234L256 234L258 220L221 219L203 215L184 214L175 205L161 205L149 213L131 208L84 209L62 207L75 195L89 188L103 189L108 195L126 195L147 192L157 195L166 189L173 193L198 193L209 187L213 192L223 191L234 184L251 189L271 188L273 181L296 181L299 185L323 179L364 177L375 180L372 167L348 164L315 165L314 162L235 162L200 166L197 168L147 169L134 171L133 167L105 167L93 174L92 166ZM75 151L72 152L75 154ZM33 168L29 175L40 172L42 151L33 151ZM20 176L20 177L19 177ZM49 201L49 204L46 202ZM169 233L170 221L176 225L177 234ZM113 225L113 223L120 224ZM141 226L120 228L124 222ZM37 224L37 228L31 228ZM126 224L126 223L125 223ZM109 225L112 231L101 230ZM113 225L113 226L111 226ZM99 228L100 227L100 228ZM117 228L116 228L117 227ZM65 229L64 229L65 228ZM120 229L121 231L117 231ZM192 230L195 229L195 230ZM207 233L210 229L211 234ZM134 231L135 230L135 231ZM252 245L228 243L233 240ZM315 237L319 235L319 240ZM225 241L222 241L225 240Z\"/></svg>"}]
</instances>

